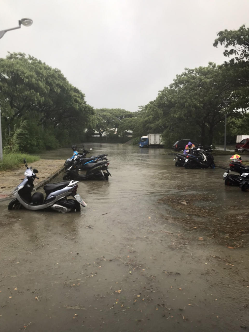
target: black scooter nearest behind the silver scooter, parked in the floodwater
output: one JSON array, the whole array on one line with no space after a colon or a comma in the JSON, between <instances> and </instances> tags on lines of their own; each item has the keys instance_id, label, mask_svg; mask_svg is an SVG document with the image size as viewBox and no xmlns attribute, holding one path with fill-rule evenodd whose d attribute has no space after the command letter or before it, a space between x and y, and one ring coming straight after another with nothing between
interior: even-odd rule
<instances>
[{"instance_id":1,"label":"black scooter nearest behind the silver scooter, parked in the floodwater","mask_svg":"<svg viewBox=\"0 0 249 332\"><path fill-rule=\"evenodd\" d=\"M63 180L109 180L109 161L80 163L80 157L75 156L73 164L65 170ZM84 158L82 158L84 159Z\"/></svg>"}]
</instances>

